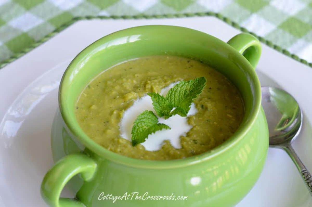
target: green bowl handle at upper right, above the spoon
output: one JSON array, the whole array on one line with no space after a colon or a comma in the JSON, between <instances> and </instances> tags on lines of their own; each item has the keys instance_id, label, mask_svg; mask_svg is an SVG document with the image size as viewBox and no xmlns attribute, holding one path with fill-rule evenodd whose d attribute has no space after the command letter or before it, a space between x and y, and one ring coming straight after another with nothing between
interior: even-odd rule
<instances>
[{"instance_id":1,"label":"green bowl handle at upper right, above the spoon","mask_svg":"<svg viewBox=\"0 0 312 207\"><path fill-rule=\"evenodd\" d=\"M261 56L261 44L259 40L248 33L241 33L232 37L227 44L241 53L256 68Z\"/></svg>"}]
</instances>

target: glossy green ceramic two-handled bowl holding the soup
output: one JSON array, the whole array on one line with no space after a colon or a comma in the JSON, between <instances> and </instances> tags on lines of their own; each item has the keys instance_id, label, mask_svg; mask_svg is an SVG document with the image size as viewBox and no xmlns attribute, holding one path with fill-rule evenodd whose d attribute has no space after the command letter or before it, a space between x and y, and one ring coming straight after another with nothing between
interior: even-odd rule
<instances>
[{"instance_id":1,"label":"glossy green ceramic two-handled bowl holding the soup","mask_svg":"<svg viewBox=\"0 0 312 207\"><path fill-rule=\"evenodd\" d=\"M211 151L170 161L128 158L92 141L75 119L80 92L106 68L150 55L190 57L227 76L241 91L245 103L246 114L236 133ZM43 199L56 207L237 204L256 183L268 150L268 127L254 70L260 55L259 41L249 34L239 34L225 43L196 30L173 26L129 28L92 43L70 63L61 81L51 141L57 162L42 181ZM67 183L76 193L75 199L60 198ZM140 200L128 196L115 203L101 200L107 194L134 192L145 197ZM150 200L146 192L152 196L173 194L176 200ZM178 200L181 195L188 197Z\"/></svg>"}]
</instances>

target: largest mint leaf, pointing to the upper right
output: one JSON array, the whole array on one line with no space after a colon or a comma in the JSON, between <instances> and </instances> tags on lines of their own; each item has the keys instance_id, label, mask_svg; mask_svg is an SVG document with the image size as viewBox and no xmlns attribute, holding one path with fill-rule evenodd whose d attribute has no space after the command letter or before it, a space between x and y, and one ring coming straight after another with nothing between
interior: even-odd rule
<instances>
[{"instance_id":1,"label":"largest mint leaf, pointing to the upper right","mask_svg":"<svg viewBox=\"0 0 312 207\"><path fill-rule=\"evenodd\" d=\"M175 107L170 116L187 116L193 100L202 92L206 86L206 78L200 77L190 81L181 81L168 91L166 99Z\"/></svg>"}]
</instances>

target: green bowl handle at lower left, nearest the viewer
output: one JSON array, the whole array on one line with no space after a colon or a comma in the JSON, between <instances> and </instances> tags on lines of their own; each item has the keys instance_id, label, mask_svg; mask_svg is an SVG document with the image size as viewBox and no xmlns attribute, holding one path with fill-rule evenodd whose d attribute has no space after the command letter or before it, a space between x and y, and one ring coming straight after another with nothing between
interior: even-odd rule
<instances>
[{"instance_id":1,"label":"green bowl handle at lower left, nearest the viewer","mask_svg":"<svg viewBox=\"0 0 312 207\"><path fill-rule=\"evenodd\" d=\"M92 179L96 166L92 158L82 153L63 157L44 176L41 183L42 198L52 207L84 207L79 200L60 198L60 195L73 176L81 173L83 180Z\"/></svg>"}]
</instances>

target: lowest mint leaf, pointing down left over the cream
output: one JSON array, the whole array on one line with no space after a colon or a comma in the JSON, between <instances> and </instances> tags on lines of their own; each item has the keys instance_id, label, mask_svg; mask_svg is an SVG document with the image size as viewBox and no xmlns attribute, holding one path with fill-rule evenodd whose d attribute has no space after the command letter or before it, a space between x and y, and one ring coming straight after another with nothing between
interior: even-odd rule
<instances>
[{"instance_id":1,"label":"lowest mint leaf, pointing down left over the cream","mask_svg":"<svg viewBox=\"0 0 312 207\"><path fill-rule=\"evenodd\" d=\"M135 146L144 142L150 134L162 129L171 128L165 124L158 123L158 118L153 111L144 111L134 121L131 131L132 145Z\"/></svg>"}]
</instances>

